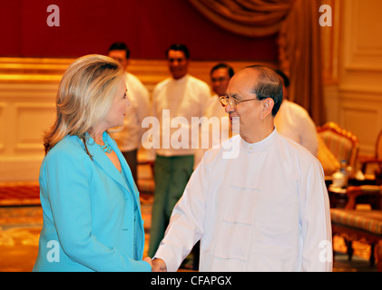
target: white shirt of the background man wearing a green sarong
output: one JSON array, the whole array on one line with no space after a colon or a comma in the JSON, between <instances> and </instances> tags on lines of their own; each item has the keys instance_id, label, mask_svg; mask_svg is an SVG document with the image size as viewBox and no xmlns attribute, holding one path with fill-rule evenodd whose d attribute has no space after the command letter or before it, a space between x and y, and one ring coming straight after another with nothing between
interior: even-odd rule
<instances>
[{"instance_id":1,"label":"white shirt of the background man wearing a green sarong","mask_svg":"<svg viewBox=\"0 0 382 290\"><path fill-rule=\"evenodd\" d=\"M155 86L152 113L160 122L160 130L154 133L155 138L161 140L157 154L179 156L195 153L199 146L199 121L210 97L209 85L189 74L180 80L168 78Z\"/></svg>"}]
</instances>

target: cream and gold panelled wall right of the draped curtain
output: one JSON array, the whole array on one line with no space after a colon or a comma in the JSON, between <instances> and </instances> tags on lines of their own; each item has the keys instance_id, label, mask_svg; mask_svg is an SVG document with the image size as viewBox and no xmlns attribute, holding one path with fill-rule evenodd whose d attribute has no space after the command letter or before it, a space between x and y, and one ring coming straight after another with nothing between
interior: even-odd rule
<instances>
[{"instance_id":1,"label":"cream and gold panelled wall right of the draped curtain","mask_svg":"<svg viewBox=\"0 0 382 290\"><path fill-rule=\"evenodd\" d=\"M382 2L341 1L338 122L374 154L382 130Z\"/></svg>"}]
</instances>

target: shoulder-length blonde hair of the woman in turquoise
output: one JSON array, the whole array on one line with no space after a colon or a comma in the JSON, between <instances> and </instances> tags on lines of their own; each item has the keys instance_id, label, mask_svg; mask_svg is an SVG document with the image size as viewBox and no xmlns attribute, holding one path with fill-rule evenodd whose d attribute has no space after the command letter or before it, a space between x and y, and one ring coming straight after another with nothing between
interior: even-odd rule
<instances>
[{"instance_id":1,"label":"shoulder-length blonde hair of the woman in turquoise","mask_svg":"<svg viewBox=\"0 0 382 290\"><path fill-rule=\"evenodd\" d=\"M93 129L105 118L122 78L122 66L110 57L91 54L74 61L58 88L57 116L44 134L45 155L66 135L82 139L87 151L86 133L93 136Z\"/></svg>"}]
</instances>

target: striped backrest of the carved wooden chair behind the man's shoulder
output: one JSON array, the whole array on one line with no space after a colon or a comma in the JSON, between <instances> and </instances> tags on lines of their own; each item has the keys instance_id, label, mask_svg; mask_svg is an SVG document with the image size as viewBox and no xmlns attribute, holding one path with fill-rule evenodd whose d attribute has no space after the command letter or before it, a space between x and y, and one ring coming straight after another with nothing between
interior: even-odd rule
<instances>
[{"instance_id":1,"label":"striped backrest of the carved wooden chair behind the man's shoulder","mask_svg":"<svg viewBox=\"0 0 382 290\"><path fill-rule=\"evenodd\" d=\"M348 166L355 169L359 150L357 137L352 132L340 128L335 122L318 127L317 131L338 162L346 160Z\"/></svg>"}]
</instances>

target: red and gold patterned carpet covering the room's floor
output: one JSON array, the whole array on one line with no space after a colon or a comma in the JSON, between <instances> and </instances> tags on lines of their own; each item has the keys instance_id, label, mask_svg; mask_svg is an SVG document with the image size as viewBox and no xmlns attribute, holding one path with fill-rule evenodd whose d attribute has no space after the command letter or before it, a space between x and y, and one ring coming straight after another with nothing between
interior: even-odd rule
<instances>
[{"instance_id":1,"label":"red and gold patterned carpet covering the room's floor","mask_svg":"<svg viewBox=\"0 0 382 290\"><path fill-rule=\"evenodd\" d=\"M20 185L20 184L18 184ZM32 184L24 184L24 189L8 185L0 187L0 272L30 272L37 256L38 238L43 226L43 210L39 205L38 189ZM150 239L152 194L142 194L142 218L146 233L145 251ZM370 267L368 257L370 247L354 243L354 256L348 261L346 246L342 238L335 237L335 272L375 272L377 266Z\"/></svg>"}]
</instances>

